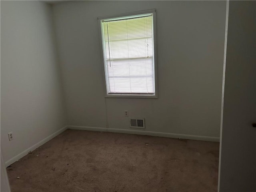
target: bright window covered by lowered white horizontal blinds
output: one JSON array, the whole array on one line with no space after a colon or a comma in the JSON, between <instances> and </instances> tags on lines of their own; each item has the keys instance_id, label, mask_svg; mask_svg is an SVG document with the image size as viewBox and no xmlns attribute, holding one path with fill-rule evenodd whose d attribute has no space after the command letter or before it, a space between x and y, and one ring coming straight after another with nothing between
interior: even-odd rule
<instances>
[{"instance_id":1,"label":"bright window covered by lowered white horizontal blinds","mask_svg":"<svg viewBox=\"0 0 256 192\"><path fill-rule=\"evenodd\" d=\"M155 10L99 21L107 96L156 98Z\"/></svg>"}]
</instances>

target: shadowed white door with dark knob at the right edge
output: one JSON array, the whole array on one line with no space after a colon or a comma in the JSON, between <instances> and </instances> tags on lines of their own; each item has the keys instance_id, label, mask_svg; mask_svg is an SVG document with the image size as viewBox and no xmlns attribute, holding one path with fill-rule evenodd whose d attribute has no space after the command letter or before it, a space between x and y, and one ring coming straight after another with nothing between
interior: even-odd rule
<instances>
[{"instance_id":1,"label":"shadowed white door with dark knob at the right edge","mask_svg":"<svg viewBox=\"0 0 256 192\"><path fill-rule=\"evenodd\" d=\"M256 2L230 1L220 192L256 191Z\"/></svg>"}]
</instances>

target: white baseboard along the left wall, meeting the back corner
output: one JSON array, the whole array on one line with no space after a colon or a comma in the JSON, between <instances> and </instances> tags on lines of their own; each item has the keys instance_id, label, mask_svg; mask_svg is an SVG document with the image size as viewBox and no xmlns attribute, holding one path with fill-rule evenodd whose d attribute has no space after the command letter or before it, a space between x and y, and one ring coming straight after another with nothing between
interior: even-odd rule
<instances>
[{"instance_id":1,"label":"white baseboard along the left wall, meeting the back corner","mask_svg":"<svg viewBox=\"0 0 256 192\"><path fill-rule=\"evenodd\" d=\"M45 144L46 142L50 141L52 138L56 137L58 134L61 134L67 129L67 126L61 128L60 130L56 131L55 133L51 134L50 136L44 138L40 142L34 144L32 147L24 150L20 154L14 156L10 160L5 162L5 166L8 167L9 165L13 164L14 162L18 161L20 158L24 157L25 155L28 154L28 152L35 150L36 148L40 147L41 145Z\"/></svg>"}]
</instances>

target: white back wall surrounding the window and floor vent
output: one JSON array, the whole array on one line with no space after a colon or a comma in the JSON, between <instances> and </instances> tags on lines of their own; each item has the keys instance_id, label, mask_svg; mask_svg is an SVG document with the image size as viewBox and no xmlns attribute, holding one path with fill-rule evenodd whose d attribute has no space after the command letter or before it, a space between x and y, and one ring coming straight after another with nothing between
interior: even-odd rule
<instances>
[{"instance_id":1,"label":"white back wall surrounding the window and floor vent","mask_svg":"<svg viewBox=\"0 0 256 192\"><path fill-rule=\"evenodd\" d=\"M98 16L156 8L158 99L104 98ZM68 125L219 138L226 2L75 1L53 6Z\"/></svg>"}]
</instances>

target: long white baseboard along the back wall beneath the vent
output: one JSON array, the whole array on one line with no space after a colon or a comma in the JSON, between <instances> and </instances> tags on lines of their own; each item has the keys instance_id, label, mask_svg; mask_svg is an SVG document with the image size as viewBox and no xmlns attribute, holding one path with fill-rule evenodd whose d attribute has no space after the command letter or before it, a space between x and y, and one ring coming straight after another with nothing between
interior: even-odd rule
<instances>
[{"instance_id":1,"label":"long white baseboard along the back wall beneath the vent","mask_svg":"<svg viewBox=\"0 0 256 192\"><path fill-rule=\"evenodd\" d=\"M114 133L127 133L127 134L168 137L168 138L181 138L181 139L190 139L190 140L220 142L219 137L185 135L185 134L174 134L174 133L162 133L162 132L152 132L152 131L146 131L146 130L142 131L142 130L128 130L128 129L112 129L112 128L86 127L86 126L67 126L67 128L68 129L77 129L77 130L87 130L87 131L104 131L104 132L114 132Z\"/></svg>"}]
</instances>

